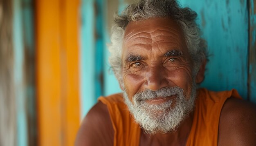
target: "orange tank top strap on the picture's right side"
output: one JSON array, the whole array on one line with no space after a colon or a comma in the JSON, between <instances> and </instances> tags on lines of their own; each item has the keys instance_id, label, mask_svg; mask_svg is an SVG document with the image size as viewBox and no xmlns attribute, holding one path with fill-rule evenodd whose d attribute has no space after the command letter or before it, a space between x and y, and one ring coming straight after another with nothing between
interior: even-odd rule
<instances>
[{"instance_id":1,"label":"orange tank top strap on the picture's right side","mask_svg":"<svg viewBox=\"0 0 256 146\"><path fill-rule=\"evenodd\" d=\"M236 90L213 92L198 89L193 124L186 146L217 146L220 112L229 97L241 98Z\"/></svg>"}]
</instances>

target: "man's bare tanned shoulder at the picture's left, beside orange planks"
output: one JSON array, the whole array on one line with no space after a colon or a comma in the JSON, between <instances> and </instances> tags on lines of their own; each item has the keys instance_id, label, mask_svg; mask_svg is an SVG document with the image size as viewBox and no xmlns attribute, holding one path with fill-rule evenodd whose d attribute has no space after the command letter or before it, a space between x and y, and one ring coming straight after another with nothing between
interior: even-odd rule
<instances>
[{"instance_id":1,"label":"man's bare tanned shoulder at the picture's left, beside orange planks","mask_svg":"<svg viewBox=\"0 0 256 146\"><path fill-rule=\"evenodd\" d=\"M113 139L114 130L108 108L98 102L83 119L75 146L111 146Z\"/></svg>"}]
</instances>

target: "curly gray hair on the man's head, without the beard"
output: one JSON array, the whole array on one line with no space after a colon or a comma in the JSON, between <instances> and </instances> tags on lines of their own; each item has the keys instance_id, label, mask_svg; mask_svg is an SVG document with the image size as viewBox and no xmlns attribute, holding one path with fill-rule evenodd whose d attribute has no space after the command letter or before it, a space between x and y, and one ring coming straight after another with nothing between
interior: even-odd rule
<instances>
[{"instance_id":1,"label":"curly gray hair on the man's head, without the beard","mask_svg":"<svg viewBox=\"0 0 256 146\"><path fill-rule=\"evenodd\" d=\"M111 31L109 62L117 80L122 83L121 51L124 31L131 21L142 21L153 17L172 18L183 30L189 54L193 60L193 77L207 57L206 42L200 38L200 29L196 24L197 13L190 8L180 7L176 0L139 0L130 4L120 15L114 16Z\"/></svg>"}]
</instances>

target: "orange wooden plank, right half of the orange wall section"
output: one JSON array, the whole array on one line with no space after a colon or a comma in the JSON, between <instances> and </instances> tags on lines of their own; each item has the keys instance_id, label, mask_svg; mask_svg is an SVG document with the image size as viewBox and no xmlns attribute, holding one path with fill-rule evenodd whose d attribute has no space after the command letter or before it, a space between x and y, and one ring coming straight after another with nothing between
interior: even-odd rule
<instances>
[{"instance_id":1,"label":"orange wooden plank, right half of the orange wall section","mask_svg":"<svg viewBox=\"0 0 256 146\"><path fill-rule=\"evenodd\" d=\"M80 123L79 107L79 0L62 0L61 6L61 104L63 145L73 146Z\"/></svg>"}]
</instances>

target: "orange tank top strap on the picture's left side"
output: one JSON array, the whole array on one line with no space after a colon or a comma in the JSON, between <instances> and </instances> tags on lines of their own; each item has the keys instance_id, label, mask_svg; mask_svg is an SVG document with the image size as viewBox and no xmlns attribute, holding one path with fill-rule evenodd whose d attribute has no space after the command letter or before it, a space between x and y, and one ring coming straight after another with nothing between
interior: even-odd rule
<instances>
[{"instance_id":1,"label":"orange tank top strap on the picture's left side","mask_svg":"<svg viewBox=\"0 0 256 146\"><path fill-rule=\"evenodd\" d=\"M140 128L134 121L121 94L98 99L108 106L114 133L114 146L139 146Z\"/></svg>"}]
</instances>

